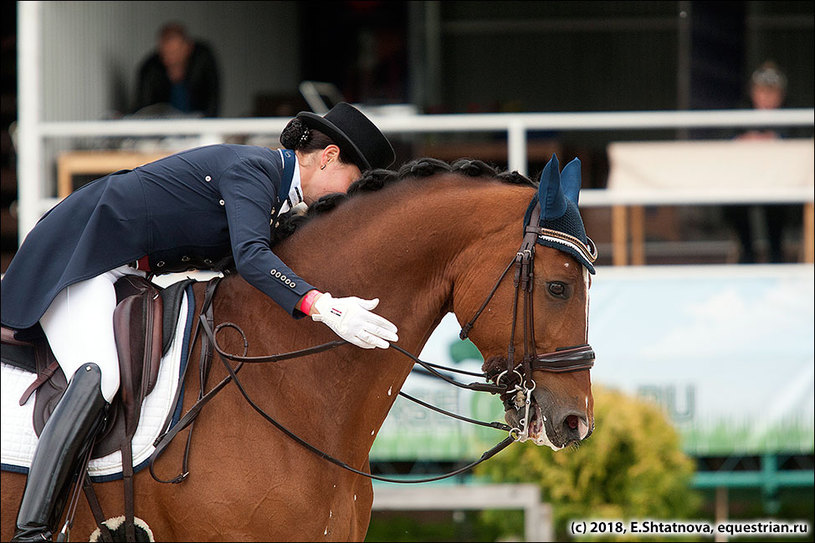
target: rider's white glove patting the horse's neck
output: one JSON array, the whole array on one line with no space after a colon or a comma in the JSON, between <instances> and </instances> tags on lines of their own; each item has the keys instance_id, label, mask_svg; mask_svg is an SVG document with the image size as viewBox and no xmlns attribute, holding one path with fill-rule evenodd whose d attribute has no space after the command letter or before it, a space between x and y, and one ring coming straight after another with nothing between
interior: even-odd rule
<instances>
[{"instance_id":1,"label":"rider's white glove patting the horse's neck","mask_svg":"<svg viewBox=\"0 0 815 543\"><path fill-rule=\"evenodd\" d=\"M322 322L342 339L363 349L387 349L389 341L398 341L396 326L371 313L379 298L363 300L356 296L334 298L325 292L314 302L312 320Z\"/></svg>"}]
</instances>

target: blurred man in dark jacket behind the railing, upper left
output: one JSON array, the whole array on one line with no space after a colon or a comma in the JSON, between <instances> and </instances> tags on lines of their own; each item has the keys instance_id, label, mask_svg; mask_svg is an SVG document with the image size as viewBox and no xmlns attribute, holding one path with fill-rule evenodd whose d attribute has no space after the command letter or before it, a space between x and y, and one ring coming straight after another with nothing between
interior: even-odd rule
<instances>
[{"instance_id":1,"label":"blurred man in dark jacket behind the railing, upper left","mask_svg":"<svg viewBox=\"0 0 815 543\"><path fill-rule=\"evenodd\" d=\"M168 107L170 113L218 116L219 74L210 47L187 34L181 23L170 22L158 33L156 50L138 71L135 112L148 106Z\"/></svg>"}]
</instances>

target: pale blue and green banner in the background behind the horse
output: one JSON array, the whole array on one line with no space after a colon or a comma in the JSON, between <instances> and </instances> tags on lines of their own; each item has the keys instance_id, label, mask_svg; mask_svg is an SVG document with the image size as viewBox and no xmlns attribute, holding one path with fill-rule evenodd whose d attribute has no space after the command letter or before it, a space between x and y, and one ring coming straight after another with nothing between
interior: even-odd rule
<instances>
[{"instance_id":1,"label":"pale blue and green banner in the background behind the horse","mask_svg":"<svg viewBox=\"0 0 815 543\"><path fill-rule=\"evenodd\" d=\"M812 453L814 279L812 265L797 264L600 268L591 288L592 382L659 404L690 454ZM445 317L420 358L480 371L477 349L458 331ZM490 394L416 374L403 390L503 422ZM399 397L371 457L474 459L505 436Z\"/></svg>"}]
</instances>

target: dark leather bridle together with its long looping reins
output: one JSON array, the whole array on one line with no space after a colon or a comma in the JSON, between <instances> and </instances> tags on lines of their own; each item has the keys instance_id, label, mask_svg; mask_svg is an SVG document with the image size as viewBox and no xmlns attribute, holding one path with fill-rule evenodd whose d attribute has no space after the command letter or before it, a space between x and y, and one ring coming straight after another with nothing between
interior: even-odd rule
<instances>
[{"instance_id":1,"label":"dark leather bridle together with its long looping reins","mask_svg":"<svg viewBox=\"0 0 815 543\"><path fill-rule=\"evenodd\" d=\"M539 204L536 205L535 210L532 216L538 216L539 214ZM402 347L398 345L391 344L391 347L396 351L400 352L401 354L407 356L415 364L419 364L425 370L427 370L431 375L434 377L438 377L450 384L458 386L460 388L466 388L469 390L474 390L478 392L490 392L491 394L500 394L502 400L507 405L514 405L515 409L519 410L524 409L524 416L519 418L519 425L520 427L512 428L506 424L500 422L482 422L473 419L469 419L467 417L463 417L460 415L456 415L454 413L450 413L443 409L431 406L422 402L421 400L417 400L408 394L403 392L399 392L399 394L411 401L417 402L420 405L438 411L440 413L446 414L448 416L457 418L459 420L464 420L466 422L470 422L473 424L480 424L482 426L488 426L491 428L504 430L509 432L509 436L507 436L503 441L489 449L488 451L484 452L481 457L471 462L470 464L461 467L457 470L452 472L446 473L444 475L436 476L436 477L429 477L423 479L413 479L413 480L402 480L402 479L393 479L388 477L382 477L378 475L373 475L370 473L365 473L358 469L349 466L345 462L338 460L331 455L325 453L324 451L318 449L317 447L311 445L304 439L300 438L298 435L284 427L282 424L277 422L271 416L269 416L263 409L261 409L249 395L246 393L243 385L241 384L240 380L238 379L238 372L243 367L244 363L265 363L265 362L278 362L281 360L287 360L292 358L298 358L301 356L311 355L315 353L319 353L322 351L326 351L328 349L332 349L334 347L339 347L341 345L345 345L347 342L344 340L337 340L331 341L328 343L324 343L321 345L317 345L314 347L309 347L306 349L301 349L298 351L292 351L289 353L281 353L275 355L267 355L267 356L246 356L248 352L249 344L246 339L246 335L243 333L241 328L231 322L224 322L217 326L214 326L214 318L212 314L212 299L215 295L215 290L220 282L220 277L217 277L209 282L207 285L206 295L204 297L204 302L202 304L201 313L199 315L199 319L196 323L196 329L193 334L192 344L197 340L199 333L203 330L203 336L201 339L201 354L200 354L200 384L201 384L201 392L199 393L198 401L189 409L189 411L181 417L178 422L171 426L170 421L166 421L164 428L167 428L165 432L163 432L158 438L156 438L154 442L154 446L156 447L153 454L150 456L150 473L156 481L163 482L163 483L180 483L184 479L186 479L187 475L189 474L189 470L187 469L187 460L188 460L188 452L189 452L189 445L191 442L191 432L187 438L187 450L184 455L184 464L182 467L182 473L175 477L174 479L170 480L162 480L159 479L154 470L153 465L155 460L160 456L161 452L170 444L173 438L183 430L184 428L191 426L197 415L200 413L204 404L206 404L212 397L217 394L221 389L229 383L229 381L234 381L237 385L238 389L240 390L241 394L247 400L247 402L255 409L261 416L263 416L268 422L272 425L280 429L284 434L286 434L289 438L296 441L306 449L310 450L311 452L317 454L318 456L322 457L323 459L342 467L348 471L356 473L358 475L362 475L364 477L368 477L370 479L376 479L379 481L386 481L392 483L423 483L423 482L430 482L430 481L437 481L440 479L445 479L454 475L458 475L460 473L464 473L476 465L484 462L485 460L491 458L507 446L511 445L515 441L526 441L529 438L529 409L532 400L532 391L535 389L535 381L532 379L532 372L536 370L540 371L547 371L552 373L564 373L564 372L574 372L580 370L590 369L594 366L594 350L588 344L577 345L573 347L565 347L556 349L553 352L542 353L538 354L535 347L535 326L534 326L534 312L533 312L533 284L534 284L534 264L535 264L535 244L537 243L538 236L541 235L543 229L540 227L529 226L525 225L524 227L524 238L523 242L521 243L521 247L515 256L512 258L510 263L501 273L501 276L496 281L495 285L493 286L490 293L487 295L487 298L481 304L481 307L476 311L476 314L473 316L470 321L465 324L459 337L461 339L466 339L469 332L472 330L473 326L475 325L476 320L481 315L481 313L486 309L487 305L489 304L492 297L495 295L498 287L501 285L503 280L506 278L507 274L511 269L515 269L515 277L514 277L514 287L515 287L515 296L513 299L512 305L512 327L511 327L511 334L510 334L510 341L509 346L507 349L507 364L506 368L496 372L492 372L489 374L476 374L471 372L465 372L461 370L457 370L454 368L447 368L444 366L439 366L436 364L431 364L429 362L425 362L420 360L415 355L411 354L410 352L406 351ZM518 323L518 300L521 297L521 293L523 293L523 357L520 362L516 364L515 362L515 335L516 335L516 328ZM216 336L218 332L224 328L232 328L237 330L241 337L243 338L243 355L236 355L227 353L221 349L218 345L218 341ZM204 338L204 336L206 336ZM213 357L213 350L218 353L219 357L221 358L228 375L222 379L215 387L213 387L209 392L204 394L204 385L207 381L207 377L209 375L209 369L211 367L211 361ZM238 362L237 366L233 368L229 365L227 361ZM189 366L189 364L187 364ZM435 368L443 369L444 371L449 371L453 373L463 373L467 375L474 375L477 377L485 378L487 381L493 381L493 383L461 383L455 379L451 379L450 377L440 373ZM185 367L186 372L186 367ZM184 379L184 375L181 376L182 382ZM181 387L179 387L180 389ZM176 405L177 402L174 401L173 405Z\"/></svg>"}]
</instances>

